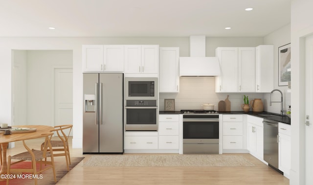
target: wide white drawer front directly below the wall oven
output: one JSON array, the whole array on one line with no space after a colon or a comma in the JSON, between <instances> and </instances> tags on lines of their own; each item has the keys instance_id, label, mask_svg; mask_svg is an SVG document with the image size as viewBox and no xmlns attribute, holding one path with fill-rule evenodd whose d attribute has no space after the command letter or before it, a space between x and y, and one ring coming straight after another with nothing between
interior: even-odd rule
<instances>
[{"instance_id":1,"label":"wide white drawer front directly below the wall oven","mask_svg":"<svg viewBox=\"0 0 313 185\"><path fill-rule=\"evenodd\" d=\"M125 149L157 149L157 136L126 136Z\"/></svg>"}]
</instances>

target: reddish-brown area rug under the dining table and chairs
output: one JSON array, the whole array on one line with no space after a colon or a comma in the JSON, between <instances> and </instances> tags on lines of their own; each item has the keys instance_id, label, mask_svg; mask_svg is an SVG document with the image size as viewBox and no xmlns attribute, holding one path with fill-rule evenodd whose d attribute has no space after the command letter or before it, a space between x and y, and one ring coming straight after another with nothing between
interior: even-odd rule
<instances>
[{"instance_id":1,"label":"reddish-brown area rug under the dining table and chairs","mask_svg":"<svg viewBox=\"0 0 313 185\"><path fill-rule=\"evenodd\" d=\"M71 164L68 166L69 170L73 169L79 162L81 162L84 159L84 157L71 157L70 162ZM14 168L29 168L31 162L25 161L21 162L19 164L12 165L15 166ZM66 162L54 162L55 164L55 172L56 172L56 179L57 182L62 179L67 174L67 165ZM39 167L39 165L38 165ZM35 180L25 178L25 176L20 176L21 179L12 179L9 181L9 185L34 185ZM46 170L42 173L42 176L38 176L38 185L55 185L53 178L53 172L52 169ZM0 185L5 185L6 181L0 181Z\"/></svg>"}]
</instances>

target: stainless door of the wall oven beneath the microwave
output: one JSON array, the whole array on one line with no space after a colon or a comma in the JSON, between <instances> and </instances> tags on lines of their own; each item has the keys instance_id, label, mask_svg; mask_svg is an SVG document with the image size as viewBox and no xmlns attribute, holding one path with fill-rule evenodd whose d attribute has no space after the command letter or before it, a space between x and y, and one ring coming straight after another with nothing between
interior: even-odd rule
<instances>
[{"instance_id":1,"label":"stainless door of the wall oven beneath the microwave","mask_svg":"<svg viewBox=\"0 0 313 185\"><path fill-rule=\"evenodd\" d=\"M125 131L157 131L157 107L125 107Z\"/></svg>"}]
</instances>

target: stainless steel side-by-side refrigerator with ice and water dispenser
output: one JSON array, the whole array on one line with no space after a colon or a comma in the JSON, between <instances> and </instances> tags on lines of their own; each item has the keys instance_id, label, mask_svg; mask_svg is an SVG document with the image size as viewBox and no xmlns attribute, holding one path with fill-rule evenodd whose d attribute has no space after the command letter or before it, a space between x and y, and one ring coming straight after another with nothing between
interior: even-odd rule
<instances>
[{"instance_id":1,"label":"stainless steel side-by-side refrigerator with ice and water dispenser","mask_svg":"<svg viewBox=\"0 0 313 185\"><path fill-rule=\"evenodd\" d=\"M84 73L83 93L83 154L123 153L123 73Z\"/></svg>"}]
</instances>

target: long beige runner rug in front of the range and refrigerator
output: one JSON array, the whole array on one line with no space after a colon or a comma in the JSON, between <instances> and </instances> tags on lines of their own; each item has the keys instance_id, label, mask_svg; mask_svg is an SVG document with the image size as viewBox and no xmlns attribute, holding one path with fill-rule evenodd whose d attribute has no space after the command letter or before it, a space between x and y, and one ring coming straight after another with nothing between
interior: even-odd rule
<instances>
[{"instance_id":1,"label":"long beige runner rug in front of the range and refrigerator","mask_svg":"<svg viewBox=\"0 0 313 185\"><path fill-rule=\"evenodd\" d=\"M242 155L94 155L83 166L254 166L254 164Z\"/></svg>"}]
</instances>

